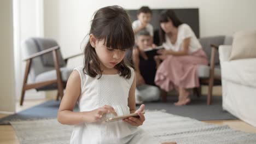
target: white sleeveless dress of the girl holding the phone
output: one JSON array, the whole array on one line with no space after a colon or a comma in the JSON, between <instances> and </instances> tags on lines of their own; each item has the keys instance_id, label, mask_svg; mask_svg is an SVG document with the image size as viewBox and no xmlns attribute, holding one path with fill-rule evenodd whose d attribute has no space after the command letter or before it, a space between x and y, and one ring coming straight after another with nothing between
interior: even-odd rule
<instances>
[{"instance_id":1,"label":"white sleeveless dress of the girl holding the phone","mask_svg":"<svg viewBox=\"0 0 256 144\"><path fill-rule=\"evenodd\" d=\"M110 105L119 116L130 113L127 105L129 90L134 78L133 69L131 69L130 79L125 79L118 74L102 75L100 79L97 79L97 77L84 74L83 66L79 66L75 70L79 72L81 79L79 111L91 111L103 105ZM103 115L101 121L112 116L111 113ZM75 125L70 143L159 143L155 137L148 135L146 131L126 122L101 123L101 121Z\"/></svg>"}]
</instances>

